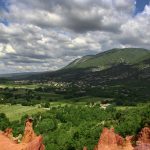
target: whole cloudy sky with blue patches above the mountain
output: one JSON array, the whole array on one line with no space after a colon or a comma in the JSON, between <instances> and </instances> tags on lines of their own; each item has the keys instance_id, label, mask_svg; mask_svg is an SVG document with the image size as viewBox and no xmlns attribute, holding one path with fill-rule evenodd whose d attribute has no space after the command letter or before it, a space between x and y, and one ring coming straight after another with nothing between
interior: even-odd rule
<instances>
[{"instance_id":1,"label":"whole cloudy sky with blue patches above the mountain","mask_svg":"<svg viewBox=\"0 0 150 150\"><path fill-rule=\"evenodd\" d=\"M0 0L0 74L51 71L112 48L150 49L150 0Z\"/></svg>"}]
</instances>

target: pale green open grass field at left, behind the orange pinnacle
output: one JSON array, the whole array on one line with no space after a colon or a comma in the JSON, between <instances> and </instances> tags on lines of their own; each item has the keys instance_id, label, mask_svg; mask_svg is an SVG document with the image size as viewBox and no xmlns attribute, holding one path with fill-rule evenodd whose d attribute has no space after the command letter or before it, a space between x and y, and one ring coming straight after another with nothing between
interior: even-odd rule
<instances>
[{"instance_id":1,"label":"pale green open grass field at left, behind the orange pinnacle","mask_svg":"<svg viewBox=\"0 0 150 150\"><path fill-rule=\"evenodd\" d=\"M20 120L25 114L32 115L38 112L44 112L43 108L37 106L22 106L22 105L0 105L0 113L6 114L10 121Z\"/></svg>"}]
</instances>

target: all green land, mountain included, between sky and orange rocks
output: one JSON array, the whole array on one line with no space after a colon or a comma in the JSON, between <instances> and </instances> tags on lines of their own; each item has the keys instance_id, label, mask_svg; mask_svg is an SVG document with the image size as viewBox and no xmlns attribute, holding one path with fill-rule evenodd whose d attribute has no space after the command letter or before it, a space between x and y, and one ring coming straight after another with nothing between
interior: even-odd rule
<instances>
[{"instance_id":1,"label":"all green land, mountain included, between sky and orange rocks","mask_svg":"<svg viewBox=\"0 0 150 150\"><path fill-rule=\"evenodd\" d=\"M105 127L137 135L150 125L149 60L149 50L113 49L53 72L1 76L0 130L22 135L30 116L46 150L92 150Z\"/></svg>"}]
</instances>

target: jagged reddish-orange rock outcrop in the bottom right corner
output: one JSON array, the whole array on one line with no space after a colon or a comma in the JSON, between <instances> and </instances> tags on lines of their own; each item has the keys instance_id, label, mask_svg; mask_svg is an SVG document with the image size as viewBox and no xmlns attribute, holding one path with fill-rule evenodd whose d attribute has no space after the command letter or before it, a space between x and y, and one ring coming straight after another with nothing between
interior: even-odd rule
<instances>
[{"instance_id":1,"label":"jagged reddish-orange rock outcrop in the bottom right corner","mask_svg":"<svg viewBox=\"0 0 150 150\"><path fill-rule=\"evenodd\" d=\"M143 128L137 136L137 142L135 139L133 136L124 139L113 128L104 128L94 150L150 150L150 128ZM134 147L133 142L136 142Z\"/></svg>"}]
</instances>

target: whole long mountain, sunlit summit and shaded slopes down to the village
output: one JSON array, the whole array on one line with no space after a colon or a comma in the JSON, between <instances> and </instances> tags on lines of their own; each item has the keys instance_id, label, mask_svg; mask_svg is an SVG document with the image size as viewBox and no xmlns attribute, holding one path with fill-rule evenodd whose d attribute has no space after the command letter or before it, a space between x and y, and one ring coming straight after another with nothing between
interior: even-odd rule
<instances>
[{"instance_id":1,"label":"whole long mountain, sunlit summit and shaded slopes down to the village","mask_svg":"<svg viewBox=\"0 0 150 150\"><path fill-rule=\"evenodd\" d=\"M149 78L150 50L142 48L111 49L96 55L76 59L66 67L53 72L7 74L13 80L55 80L65 82L99 82L120 78ZM105 79L105 80L104 80ZM101 81L102 80L102 81Z\"/></svg>"}]
</instances>

